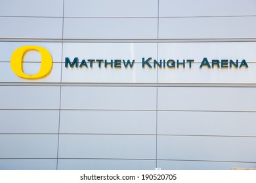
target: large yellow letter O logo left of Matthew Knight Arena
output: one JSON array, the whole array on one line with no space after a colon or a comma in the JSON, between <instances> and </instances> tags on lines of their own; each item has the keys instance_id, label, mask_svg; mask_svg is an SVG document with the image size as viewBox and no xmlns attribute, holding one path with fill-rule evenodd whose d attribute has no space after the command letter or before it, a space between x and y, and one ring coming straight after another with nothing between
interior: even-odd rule
<instances>
[{"instance_id":1,"label":"large yellow letter O logo left of Matthew Knight Arena","mask_svg":"<svg viewBox=\"0 0 256 183\"><path fill-rule=\"evenodd\" d=\"M41 54L41 67L37 74L35 75L26 75L23 72L23 59L26 55L26 52L30 50L36 50ZM12 71L20 76L21 78L26 79L38 79L43 78L44 76L48 75L51 72L53 67L53 59L51 54L48 52L47 49L41 46L21 46L14 50L11 56L11 68Z\"/></svg>"}]
</instances>

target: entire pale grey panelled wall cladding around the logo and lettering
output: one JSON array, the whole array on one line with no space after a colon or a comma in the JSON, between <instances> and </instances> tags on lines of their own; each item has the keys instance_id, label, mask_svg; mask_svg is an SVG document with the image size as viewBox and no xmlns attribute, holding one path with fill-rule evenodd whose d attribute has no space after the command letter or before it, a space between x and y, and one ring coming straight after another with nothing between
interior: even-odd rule
<instances>
[{"instance_id":1,"label":"entire pale grey panelled wall cladding around the logo and lettering","mask_svg":"<svg viewBox=\"0 0 256 183\"><path fill-rule=\"evenodd\" d=\"M253 0L1 0L0 169L256 168L255 22ZM49 76L12 73L22 45L49 50ZM66 68L66 57L136 63ZM142 69L142 57L249 68ZM40 65L26 54L25 73Z\"/></svg>"}]
</instances>

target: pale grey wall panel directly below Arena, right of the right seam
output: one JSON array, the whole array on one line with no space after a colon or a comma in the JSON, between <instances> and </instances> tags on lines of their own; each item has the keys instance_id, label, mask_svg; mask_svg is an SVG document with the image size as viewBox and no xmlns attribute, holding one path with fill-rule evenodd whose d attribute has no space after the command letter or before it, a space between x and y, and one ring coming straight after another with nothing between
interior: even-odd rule
<instances>
[{"instance_id":1,"label":"pale grey wall panel directly below Arena, right of the right seam","mask_svg":"<svg viewBox=\"0 0 256 183\"><path fill-rule=\"evenodd\" d=\"M256 88L160 87L158 110L256 111Z\"/></svg>"}]
</instances>

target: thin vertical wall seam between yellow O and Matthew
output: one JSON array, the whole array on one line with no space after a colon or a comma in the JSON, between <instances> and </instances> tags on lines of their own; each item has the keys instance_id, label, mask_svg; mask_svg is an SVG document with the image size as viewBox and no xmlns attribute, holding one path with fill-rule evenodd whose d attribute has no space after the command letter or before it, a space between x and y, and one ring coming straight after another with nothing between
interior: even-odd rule
<instances>
[{"instance_id":1,"label":"thin vertical wall seam between yellow O and Matthew","mask_svg":"<svg viewBox=\"0 0 256 183\"><path fill-rule=\"evenodd\" d=\"M60 65L60 84L62 83L62 59L63 59L63 37L64 37L64 4L65 0L62 3L62 43L61 43L61 65ZM60 142L60 107L61 107L61 89L62 86L60 85L60 103L58 108L58 144L57 144L57 159L56 159L56 170L58 170L58 148Z\"/></svg>"}]
</instances>

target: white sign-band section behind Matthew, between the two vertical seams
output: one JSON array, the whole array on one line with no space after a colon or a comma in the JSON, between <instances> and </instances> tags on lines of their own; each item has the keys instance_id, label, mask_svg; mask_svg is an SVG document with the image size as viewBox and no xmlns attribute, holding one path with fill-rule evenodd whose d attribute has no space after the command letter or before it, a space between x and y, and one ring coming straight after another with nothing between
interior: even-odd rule
<instances>
[{"instance_id":1,"label":"white sign-band section behind Matthew, between the two vertical seams","mask_svg":"<svg viewBox=\"0 0 256 183\"><path fill-rule=\"evenodd\" d=\"M63 58L70 59L71 63L78 58L79 65L85 59L88 67L62 65L62 82L156 83L156 69L141 66L142 58L146 55L156 58L156 43L64 43ZM104 62L99 66L96 61L90 65L88 59L103 59L108 63L113 60L113 67L104 67ZM121 60L120 68L114 67L115 59ZM125 67L123 61L127 63L128 60L135 60L133 67Z\"/></svg>"}]
</instances>

